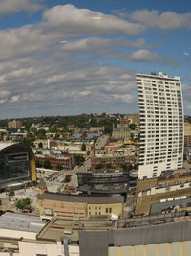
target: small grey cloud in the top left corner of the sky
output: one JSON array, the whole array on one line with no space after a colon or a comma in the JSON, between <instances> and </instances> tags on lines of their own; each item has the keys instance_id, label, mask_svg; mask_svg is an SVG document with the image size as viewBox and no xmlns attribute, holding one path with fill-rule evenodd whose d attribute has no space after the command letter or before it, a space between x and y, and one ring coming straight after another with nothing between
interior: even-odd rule
<instances>
[{"instance_id":1,"label":"small grey cloud in the top left corner of the sky","mask_svg":"<svg viewBox=\"0 0 191 256\"><path fill-rule=\"evenodd\" d=\"M0 0L0 14L13 12L36 12L43 8L41 0Z\"/></svg>"}]
</instances>

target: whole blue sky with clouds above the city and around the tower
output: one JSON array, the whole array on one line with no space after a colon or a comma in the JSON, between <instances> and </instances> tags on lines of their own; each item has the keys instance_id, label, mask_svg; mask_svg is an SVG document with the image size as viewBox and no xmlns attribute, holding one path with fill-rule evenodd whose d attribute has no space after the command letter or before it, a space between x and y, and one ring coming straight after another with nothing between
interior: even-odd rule
<instances>
[{"instance_id":1,"label":"whole blue sky with clouds above the city and around the tower","mask_svg":"<svg viewBox=\"0 0 191 256\"><path fill-rule=\"evenodd\" d=\"M190 0L0 0L0 38L0 119L136 113L151 71L191 115Z\"/></svg>"}]
</instances>

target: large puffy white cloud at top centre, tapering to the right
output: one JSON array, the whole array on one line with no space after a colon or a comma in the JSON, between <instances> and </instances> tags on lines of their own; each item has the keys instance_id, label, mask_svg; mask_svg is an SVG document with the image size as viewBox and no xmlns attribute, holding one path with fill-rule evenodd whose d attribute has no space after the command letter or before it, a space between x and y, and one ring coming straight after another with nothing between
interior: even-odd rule
<instances>
[{"instance_id":1,"label":"large puffy white cloud at top centre, tapering to the right","mask_svg":"<svg viewBox=\"0 0 191 256\"><path fill-rule=\"evenodd\" d=\"M73 5L55 6L44 12L45 26L66 35L110 35L124 33L138 35L144 28L141 24L120 19Z\"/></svg>"}]
</instances>

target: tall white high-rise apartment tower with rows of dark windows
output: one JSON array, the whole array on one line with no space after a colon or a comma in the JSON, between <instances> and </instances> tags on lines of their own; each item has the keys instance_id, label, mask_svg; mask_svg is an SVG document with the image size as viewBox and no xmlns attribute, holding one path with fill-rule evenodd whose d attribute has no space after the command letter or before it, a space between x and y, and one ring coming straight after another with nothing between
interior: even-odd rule
<instances>
[{"instance_id":1,"label":"tall white high-rise apartment tower with rows of dark windows","mask_svg":"<svg viewBox=\"0 0 191 256\"><path fill-rule=\"evenodd\" d=\"M137 74L140 114L138 178L182 168L183 106L179 77Z\"/></svg>"}]
</instances>

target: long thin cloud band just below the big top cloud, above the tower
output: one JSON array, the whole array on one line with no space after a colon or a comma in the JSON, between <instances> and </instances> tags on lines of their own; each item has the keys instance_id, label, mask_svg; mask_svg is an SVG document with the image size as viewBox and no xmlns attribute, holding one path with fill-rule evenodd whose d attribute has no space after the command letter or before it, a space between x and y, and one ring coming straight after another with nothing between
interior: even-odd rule
<instances>
[{"instance_id":1,"label":"long thin cloud band just below the big top cloud, above the tower","mask_svg":"<svg viewBox=\"0 0 191 256\"><path fill-rule=\"evenodd\" d=\"M147 47L144 39L129 41L124 38L85 38L68 41L64 43L61 49L67 54L90 53L96 58L118 58L134 62L159 61L168 65L178 63L177 59L175 58L167 58L147 49L139 49L134 52L126 51L127 48L142 47Z\"/></svg>"}]
</instances>

